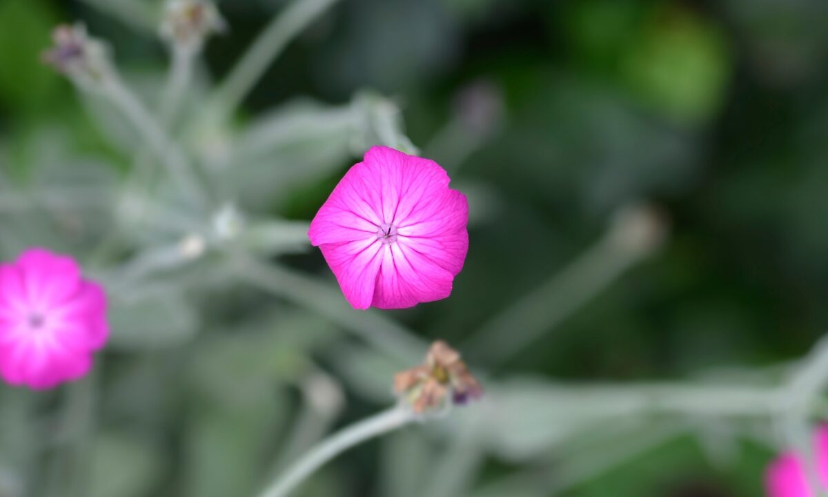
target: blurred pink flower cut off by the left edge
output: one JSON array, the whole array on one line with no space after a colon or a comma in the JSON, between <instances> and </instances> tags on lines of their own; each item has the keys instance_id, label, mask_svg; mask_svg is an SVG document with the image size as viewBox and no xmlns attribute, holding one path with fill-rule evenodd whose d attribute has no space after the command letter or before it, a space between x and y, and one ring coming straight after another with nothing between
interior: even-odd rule
<instances>
[{"instance_id":1,"label":"blurred pink flower cut off by the left edge","mask_svg":"<svg viewBox=\"0 0 828 497\"><path fill-rule=\"evenodd\" d=\"M0 264L0 374L51 388L79 379L108 335L106 297L70 257L28 249Z\"/></svg>"}]
</instances>

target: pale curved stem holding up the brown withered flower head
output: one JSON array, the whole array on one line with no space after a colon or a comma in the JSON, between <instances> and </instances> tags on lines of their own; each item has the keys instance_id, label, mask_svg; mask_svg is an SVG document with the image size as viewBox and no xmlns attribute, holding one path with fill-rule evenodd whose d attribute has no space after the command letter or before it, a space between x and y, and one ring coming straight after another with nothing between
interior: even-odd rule
<instances>
[{"instance_id":1,"label":"pale curved stem holding up the brown withered flower head","mask_svg":"<svg viewBox=\"0 0 828 497\"><path fill-rule=\"evenodd\" d=\"M260 497L290 495L291 491L295 490L308 476L335 456L373 437L396 430L414 419L416 419L415 415L406 408L394 406L344 428L310 449L305 456L296 461L296 464L274 480L272 485L260 494Z\"/></svg>"}]
</instances>

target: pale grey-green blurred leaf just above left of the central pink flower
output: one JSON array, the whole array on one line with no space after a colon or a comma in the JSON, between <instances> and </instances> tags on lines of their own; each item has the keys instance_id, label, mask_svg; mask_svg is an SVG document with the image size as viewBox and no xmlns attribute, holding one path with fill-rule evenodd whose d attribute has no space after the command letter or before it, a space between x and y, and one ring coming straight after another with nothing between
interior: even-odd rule
<instances>
[{"instance_id":1,"label":"pale grey-green blurred leaf just above left of the central pink flower","mask_svg":"<svg viewBox=\"0 0 828 497\"><path fill-rule=\"evenodd\" d=\"M240 204L263 209L280 195L330 176L373 145L417 152L390 100L366 93L352 104L329 108L301 100L252 123L234 140L230 157L214 165L214 174Z\"/></svg>"}]
</instances>

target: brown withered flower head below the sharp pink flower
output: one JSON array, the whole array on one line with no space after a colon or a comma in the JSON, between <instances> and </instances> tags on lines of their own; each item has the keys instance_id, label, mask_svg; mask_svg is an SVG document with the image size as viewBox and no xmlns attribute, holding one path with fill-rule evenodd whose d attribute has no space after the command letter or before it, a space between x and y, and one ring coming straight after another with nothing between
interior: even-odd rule
<instances>
[{"instance_id":1,"label":"brown withered flower head below the sharp pink flower","mask_svg":"<svg viewBox=\"0 0 828 497\"><path fill-rule=\"evenodd\" d=\"M431 345L425 364L394 375L394 391L418 414L439 410L449 398L464 404L483 394L460 354L442 340Z\"/></svg>"}]
</instances>

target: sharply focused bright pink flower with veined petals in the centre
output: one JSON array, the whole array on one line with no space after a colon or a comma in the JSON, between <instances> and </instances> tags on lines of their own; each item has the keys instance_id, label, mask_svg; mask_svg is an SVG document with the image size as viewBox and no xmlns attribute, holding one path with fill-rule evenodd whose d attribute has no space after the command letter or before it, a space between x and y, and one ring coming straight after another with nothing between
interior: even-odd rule
<instances>
[{"instance_id":1,"label":"sharply focused bright pink flower with veined petals in the centre","mask_svg":"<svg viewBox=\"0 0 828 497\"><path fill-rule=\"evenodd\" d=\"M373 147L310 223L310 243L351 306L401 309L448 297L469 249L469 203L436 162Z\"/></svg>"}]
</instances>

